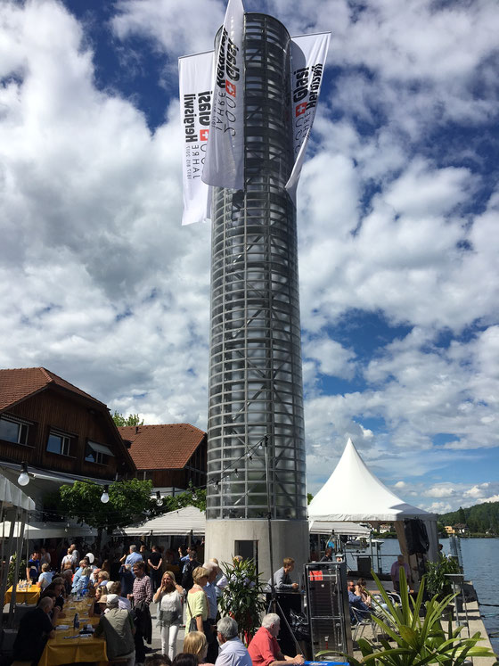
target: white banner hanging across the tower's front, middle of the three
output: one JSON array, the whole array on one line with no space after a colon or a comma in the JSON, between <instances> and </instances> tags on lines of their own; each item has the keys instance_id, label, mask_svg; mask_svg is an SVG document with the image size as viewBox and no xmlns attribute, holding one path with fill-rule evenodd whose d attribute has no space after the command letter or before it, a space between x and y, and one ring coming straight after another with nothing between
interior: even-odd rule
<instances>
[{"instance_id":1,"label":"white banner hanging across the tower's front, middle of the three","mask_svg":"<svg viewBox=\"0 0 499 666\"><path fill-rule=\"evenodd\" d=\"M229 0L217 49L213 110L202 179L209 185L244 187L244 7Z\"/></svg>"}]
</instances>

